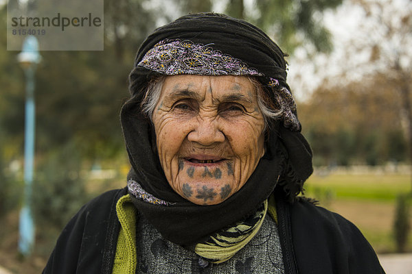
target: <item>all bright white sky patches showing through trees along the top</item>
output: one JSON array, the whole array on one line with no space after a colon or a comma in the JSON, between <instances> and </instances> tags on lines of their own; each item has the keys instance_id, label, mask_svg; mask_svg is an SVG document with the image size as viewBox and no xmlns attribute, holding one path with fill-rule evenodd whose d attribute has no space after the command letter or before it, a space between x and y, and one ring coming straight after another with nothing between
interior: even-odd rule
<instances>
[{"instance_id":1,"label":"all bright white sky patches showing through trees along the top","mask_svg":"<svg viewBox=\"0 0 412 274\"><path fill-rule=\"evenodd\" d=\"M214 1L213 10L224 12L225 5L229 0ZM343 4L336 10L326 10L323 13L324 25L332 34L334 50L329 55L313 53L310 47L301 47L295 51L293 57L288 58L288 84L298 100L310 97L311 92L324 82L325 79L338 79L343 72L347 73L349 80L361 79L363 73L359 73L359 64L363 64L370 58L370 49L361 47L365 35L369 36L368 23L365 22L365 12L362 8L354 5L356 0L343 0ZM365 0L372 1L372 0ZM376 1L376 0L375 0ZM389 9L394 10L393 18L397 18L398 12L412 12L412 1L410 0L378 0ZM0 0L0 5L5 0ZM246 10L251 13L254 0L244 0ZM179 14L172 14L170 10L174 3L171 0L150 0L146 2L146 8L161 9L169 12L171 19L177 18ZM255 15L255 14L252 14ZM157 26L168 23L165 19L157 22ZM371 34L372 35L372 34ZM369 38L369 37L368 37ZM376 39L379 39L377 37ZM359 43L359 47L356 47ZM348 46L353 47L350 56L347 55ZM412 51L412 47L411 47ZM407 56L406 65L410 65L412 53ZM368 68L371 69L371 68ZM365 68L363 68L365 70Z\"/></svg>"}]
</instances>

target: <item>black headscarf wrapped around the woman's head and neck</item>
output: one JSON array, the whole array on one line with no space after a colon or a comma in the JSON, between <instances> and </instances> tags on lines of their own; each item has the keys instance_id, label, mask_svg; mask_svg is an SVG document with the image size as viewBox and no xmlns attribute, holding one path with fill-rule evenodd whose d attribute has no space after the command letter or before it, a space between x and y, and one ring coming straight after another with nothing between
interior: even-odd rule
<instances>
[{"instance_id":1,"label":"black headscarf wrapped around the woman's head and neck","mask_svg":"<svg viewBox=\"0 0 412 274\"><path fill-rule=\"evenodd\" d=\"M208 45L256 69L260 73L257 79L266 87L264 90L273 105L279 103L276 92L290 88L286 84L286 62L281 49L258 27L229 16L214 13L183 16L156 29L141 45L129 78L131 98L121 112L132 166L128 179L135 180L150 195L172 205L159 206L136 197L132 197L133 203L164 238L181 245L192 245L254 213L275 187L293 201L312 173L312 152L299 132L300 125L293 127L285 121L277 121L269 128L264 157L247 183L229 199L214 206L198 206L174 192L159 162L152 124L141 113L140 106L148 82L159 72L139 63L155 45L169 40ZM268 85L273 79L278 82L275 87ZM293 114L296 115L295 110Z\"/></svg>"}]
</instances>

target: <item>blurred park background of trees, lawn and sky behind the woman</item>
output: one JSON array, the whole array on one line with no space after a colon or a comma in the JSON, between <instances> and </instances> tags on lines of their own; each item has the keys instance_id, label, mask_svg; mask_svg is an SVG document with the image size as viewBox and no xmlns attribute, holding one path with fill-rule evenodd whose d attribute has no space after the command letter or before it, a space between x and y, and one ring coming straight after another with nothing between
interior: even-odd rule
<instances>
[{"instance_id":1,"label":"blurred park background of trees, lawn and sky behind the woman","mask_svg":"<svg viewBox=\"0 0 412 274\"><path fill-rule=\"evenodd\" d=\"M17 249L25 73L19 51L6 51L0 1L1 266L40 273L80 206L126 185L119 110L135 53L156 27L207 11L258 25L289 54L288 83L314 152L305 194L355 223L379 254L412 252L411 1L105 0L104 51L41 51L36 67L36 241L29 256Z\"/></svg>"}]
</instances>

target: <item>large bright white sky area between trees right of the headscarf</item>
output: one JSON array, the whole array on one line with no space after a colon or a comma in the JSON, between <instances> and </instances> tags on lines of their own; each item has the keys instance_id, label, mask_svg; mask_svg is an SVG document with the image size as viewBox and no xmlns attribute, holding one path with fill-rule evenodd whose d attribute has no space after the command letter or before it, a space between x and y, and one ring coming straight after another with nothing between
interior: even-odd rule
<instances>
[{"instance_id":1,"label":"large bright white sky area between trees right of the headscarf","mask_svg":"<svg viewBox=\"0 0 412 274\"><path fill-rule=\"evenodd\" d=\"M371 0L369 0L371 1ZM329 55L308 55L305 48L297 49L295 56L288 61L288 83L295 97L304 101L311 92L321 85L325 79L339 84L339 81L359 81L370 71L387 66L394 52L402 52L404 66L411 66L412 34L405 33L400 42L400 36L385 39L385 29L378 21L366 20L365 11L354 5L354 0L344 0L336 10L327 10L323 14L324 25L332 34L334 49ZM368 2L368 0L366 0ZM403 15L412 13L410 0L380 0L385 9L382 16L393 26ZM400 32L401 33L401 32ZM402 35L402 34L400 34ZM371 44L380 46L380 55L386 55L382 62L370 65ZM408 47L408 45L411 45ZM310 49L309 49L310 52ZM349 54L350 53L350 54ZM367 65L369 64L369 65ZM345 73L343 79L340 75Z\"/></svg>"}]
</instances>

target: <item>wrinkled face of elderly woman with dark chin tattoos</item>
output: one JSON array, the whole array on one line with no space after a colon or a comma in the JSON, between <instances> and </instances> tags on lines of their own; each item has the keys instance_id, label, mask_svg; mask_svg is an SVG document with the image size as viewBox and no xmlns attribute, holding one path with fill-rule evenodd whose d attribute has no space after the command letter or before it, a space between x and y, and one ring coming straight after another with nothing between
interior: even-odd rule
<instances>
[{"instance_id":1,"label":"wrinkled face of elderly woman with dark chin tattoos","mask_svg":"<svg viewBox=\"0 0 412 274\"><path fill-rule=\"evenodd\" d=\"M264 118L247 77L165 78L152 120L165 176L198 205L242 188L264 154Z\"/></svg>"}]
</instances>

